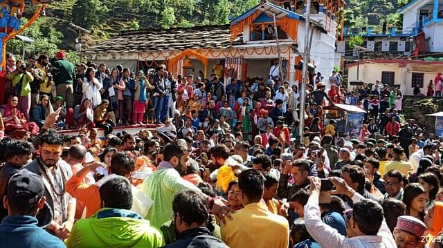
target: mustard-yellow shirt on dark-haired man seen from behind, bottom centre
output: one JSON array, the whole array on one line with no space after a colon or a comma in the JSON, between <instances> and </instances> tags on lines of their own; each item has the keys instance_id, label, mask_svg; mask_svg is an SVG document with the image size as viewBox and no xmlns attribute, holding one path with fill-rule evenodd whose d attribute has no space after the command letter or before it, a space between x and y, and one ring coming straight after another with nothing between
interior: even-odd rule
<instances>
[{"instance_id":1,"label":"mustard-yellow shirt on dark-haired man seen from behind, bottom centre","mask_svg":"<svg viewBox=\"0 0 443 248\"><path fill-rule=\"evenodd\" d=\"M221 225L221 240L231 248L287 248L289 225L282 216L271 213L265 204L247 204ZM265 231L265 232L264 232Z\"/></svg>"}]
</instances>

